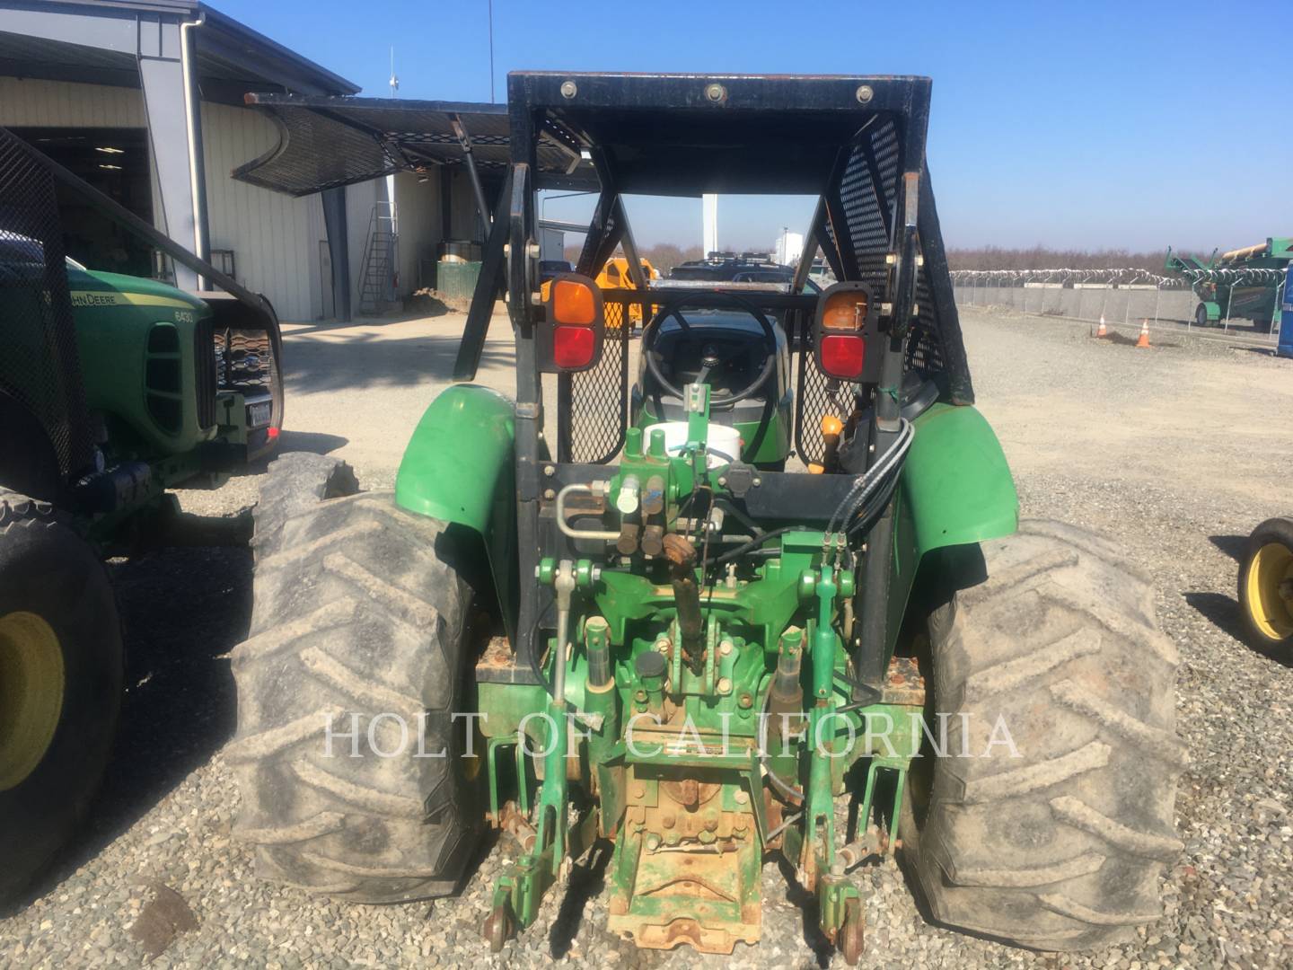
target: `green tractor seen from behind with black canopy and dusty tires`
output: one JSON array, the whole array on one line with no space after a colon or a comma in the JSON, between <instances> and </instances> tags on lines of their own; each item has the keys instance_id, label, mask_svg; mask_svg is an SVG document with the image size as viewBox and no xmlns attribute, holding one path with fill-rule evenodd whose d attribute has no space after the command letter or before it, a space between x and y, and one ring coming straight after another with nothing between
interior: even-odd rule
<instances>
[{"instance_id":1,"label":"green tractor seen from behind with black canopy and dusty tires","mask_svg":"<svg viewBox=\"0 0 1293 970\"><path fill-rule=\"evenodd\" d=\"M511 75L456 376L506 291L515 400L443 391L393 493L317 457L266 477L226 749L262 876L434 896L502 829L495 951L597 841L608 930L650 948L758 942L775 856L850 961L852 872L891 851L937 921L1028 947L1159 917L1175 648L1116 546L1018 520L928 105L922 78ZM600 198L540 286L559 186ZM599 290L617 246L639 264L622 193L712 191L818 197L790 283ZM818 247L840 282L806 292Z\"/></svg>"}]
</instances>

